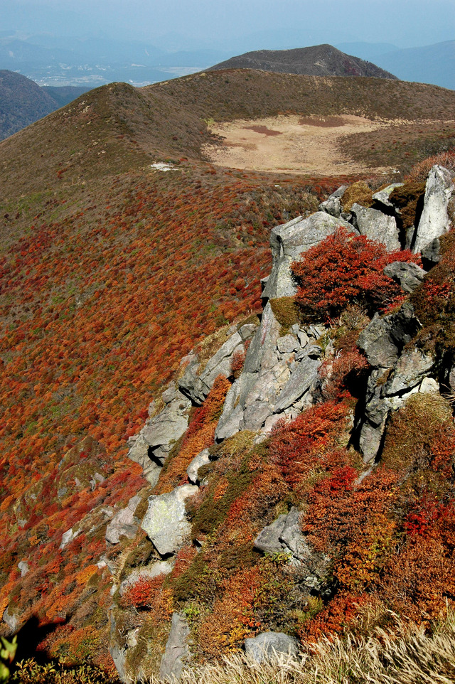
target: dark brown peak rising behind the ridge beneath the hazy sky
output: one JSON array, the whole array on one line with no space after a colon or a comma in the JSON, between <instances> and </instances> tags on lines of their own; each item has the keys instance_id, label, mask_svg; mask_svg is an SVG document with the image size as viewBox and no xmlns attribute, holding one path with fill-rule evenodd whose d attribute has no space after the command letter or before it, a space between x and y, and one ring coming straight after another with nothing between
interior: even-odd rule
<instances>
[{"instance_id":1,"label":"dark brown peak rising behind the ridge beneath the hazy sky","mask_svg":"<svg viewBox=\"0 0 455 684\"><path fill-rule=\"evenodd\" d=\"M347 55L331 45L294 50L255 50L210 67L210 70L218 69L262 69L309 76L397 78L375 64Z\"/></svg>"}]
</instances>

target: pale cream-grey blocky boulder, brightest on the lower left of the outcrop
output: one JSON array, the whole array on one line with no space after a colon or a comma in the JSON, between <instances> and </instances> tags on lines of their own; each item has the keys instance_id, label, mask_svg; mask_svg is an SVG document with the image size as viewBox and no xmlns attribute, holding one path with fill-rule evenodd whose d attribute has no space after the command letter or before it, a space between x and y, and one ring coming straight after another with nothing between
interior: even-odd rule
<instances>
[{"instance_id":1,"label":"pale cream-grey blocky boulder, brightest on the lower left of the outcrop","mask_svg":"<svg viewBox=\"0 0 455 684\"><path fill-rule=\"evenodd\" d=\"M186 520L185 501L198 491L198 487L185 484L170 493L149 496L141 528L162 556L178 551L189 537L191 525Z\"/></svg>"}]
</instances>

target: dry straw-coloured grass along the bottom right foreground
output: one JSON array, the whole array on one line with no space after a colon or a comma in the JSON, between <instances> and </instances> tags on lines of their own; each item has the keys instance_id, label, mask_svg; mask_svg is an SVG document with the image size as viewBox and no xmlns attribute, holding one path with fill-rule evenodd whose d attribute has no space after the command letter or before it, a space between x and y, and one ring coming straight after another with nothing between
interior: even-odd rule
<instances>
[{"instance_id":1,"label":"dry straw-coloured grass along the bottom right foreground","mask_svg":"<svg viewBox=\"0 0 455 684\"><path fill-rule=\"evenodd\" d=\"M400 636L323 639L301 654L257 664L237 653L183 672L182 684L449 684L455 682L455 624L430 636L400 625ZM159 680L152 678L150 684Z\"/></svg>"}]
</instances>

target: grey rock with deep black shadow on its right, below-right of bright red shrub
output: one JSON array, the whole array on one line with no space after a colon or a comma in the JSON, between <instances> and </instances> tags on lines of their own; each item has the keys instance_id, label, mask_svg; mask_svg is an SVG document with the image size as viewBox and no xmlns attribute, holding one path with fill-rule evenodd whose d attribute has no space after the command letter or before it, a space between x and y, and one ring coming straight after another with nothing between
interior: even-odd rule
<instances>
[{"instance_id":1,"label":"grey rock with deep black shadow on its right, below-right of bright red shrub","mask_svg":"<svg viewBox=\"0 0 455 684\"><path fill-rule=\"evenodd\" d=\"M396 314L382 318L375 314L370 324L360 333L358 346L374 368L390 368L419 327L412 305L405 302Z\"/></svg>"}]
</instances>

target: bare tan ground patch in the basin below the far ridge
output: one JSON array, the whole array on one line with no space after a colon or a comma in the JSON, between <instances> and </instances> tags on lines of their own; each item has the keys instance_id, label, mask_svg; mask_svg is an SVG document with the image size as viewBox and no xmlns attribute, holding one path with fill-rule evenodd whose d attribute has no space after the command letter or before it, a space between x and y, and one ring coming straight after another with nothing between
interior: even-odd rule
<instances>
[{"instance_id":1,"label":"bare tan ground patch in the basin below the far ridge","mask_svg":"<svg viewBox=\"0 0 455 684\"><path fill-rule=\"evenodd\" d=\"M329 117L279 116L213 124L210 132L223 139L203 152L213 164L234 169L310 173L339 176L353 173L390 173L355 159L342 142L347 137L395 129L402 121L343 114ZM409 122L408 122L409 125Z\"/></svg>"}]
</instances>

